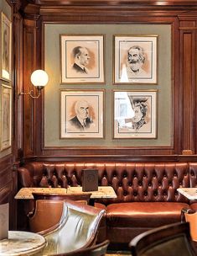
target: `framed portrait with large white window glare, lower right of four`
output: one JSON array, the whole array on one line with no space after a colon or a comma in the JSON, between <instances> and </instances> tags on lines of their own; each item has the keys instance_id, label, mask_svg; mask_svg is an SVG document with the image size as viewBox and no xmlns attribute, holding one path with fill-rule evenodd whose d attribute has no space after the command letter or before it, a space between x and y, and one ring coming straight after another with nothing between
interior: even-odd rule
<instances>
[{"instance_id":1,"label":"framed portrait with large white window glare, lower right of four","mask_svg":"<svg viewBox=\"0 0 197 256\"><path fill-rule=\"evenodd\" d=\"M114 138L157 137L157 90L114 91Z\"/></svg>"}]
</instances>

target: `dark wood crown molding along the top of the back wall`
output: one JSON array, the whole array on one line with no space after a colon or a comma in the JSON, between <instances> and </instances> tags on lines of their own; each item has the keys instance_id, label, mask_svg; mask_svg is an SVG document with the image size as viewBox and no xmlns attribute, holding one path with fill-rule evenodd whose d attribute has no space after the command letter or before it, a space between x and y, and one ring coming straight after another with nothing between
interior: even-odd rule
<instances>
[{"instance_id":1,"label":"dark wood crown molding along the top of the back wall","mask_svg":"<svg viewBox=\"0 0 197 256\"><path fill-rule=\"evenodd\" d=\"M187 13L196 13L197 3L195 1L116 1L116 0L86 0L86 1L57 1L57 0L26 0L22 1L21 11L23 15L29 19L35 19L39 15L50 16L49 19L64 20L66 16L81 19L83 15L86 17L94 17L99 15L100 19L106 16L127 16L132 15L135 18L143 17L163 17L177 16L187 11ZM101 18L102 13L102 18Z\"/></svg>"}]
</instances>

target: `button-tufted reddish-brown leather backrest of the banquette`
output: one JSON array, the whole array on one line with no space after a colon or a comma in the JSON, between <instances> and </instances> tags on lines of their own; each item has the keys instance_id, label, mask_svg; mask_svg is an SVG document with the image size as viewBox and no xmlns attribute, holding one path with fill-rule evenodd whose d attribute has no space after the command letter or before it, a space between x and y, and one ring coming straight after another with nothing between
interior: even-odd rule
<instances>
[{"instance_id":1,"label":"button-tufted reddish-brown leather backrest of the banquette","mask_svg":"<svg viewBox=\"0 0 197 256\"><path fill-rule=\"evenodd\" d=\"M97 168L99 185L115 189L107 202L187 201L177 189L197 180L197 163L31 162L18 168L18 188L78 186L84 168Z\"/></svg>"}]
</instances>

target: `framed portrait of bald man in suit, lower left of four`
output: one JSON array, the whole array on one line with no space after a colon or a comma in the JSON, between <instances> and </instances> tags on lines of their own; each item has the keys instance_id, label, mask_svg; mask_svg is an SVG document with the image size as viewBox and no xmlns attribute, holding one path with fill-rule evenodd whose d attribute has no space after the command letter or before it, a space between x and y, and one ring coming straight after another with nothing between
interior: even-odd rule
<instances>
[{"instance_id":1,"label":"framed portrait of bald man in suit, lower left of four","mask_svg":"<svg viewBox=\"0 0 197 256\"><path fill-rule=\"evenodd\" d=\"M104 90L60 90L60 138L102 138Z\"/></svg>"}]
</instances>

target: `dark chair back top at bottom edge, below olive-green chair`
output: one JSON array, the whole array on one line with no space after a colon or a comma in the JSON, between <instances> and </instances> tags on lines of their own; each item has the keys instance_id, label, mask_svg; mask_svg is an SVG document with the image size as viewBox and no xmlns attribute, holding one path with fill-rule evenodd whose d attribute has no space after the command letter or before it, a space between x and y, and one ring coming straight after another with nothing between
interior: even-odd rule
<instances>
[{"instance_id":1,"label":"dark chair back top at bottom edge, below olive-green chair","mask_svg":"<svg viewBox=\"0 0 197 256\"><path fill-rule=\"evenodd\" d=\"M80 249L72 253L54 254L52 256L103 256L106 255L106 249L109 243L110 241L106 240L102 243L98 243L94 246Z\"/></svg>"}]
</instances>

